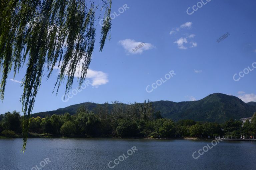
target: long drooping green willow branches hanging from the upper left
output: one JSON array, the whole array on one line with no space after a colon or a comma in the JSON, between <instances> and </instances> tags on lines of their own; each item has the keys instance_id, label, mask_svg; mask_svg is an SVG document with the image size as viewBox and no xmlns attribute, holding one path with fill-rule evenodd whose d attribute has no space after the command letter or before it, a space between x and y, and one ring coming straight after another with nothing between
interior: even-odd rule
<instances>
[{"instance_id":1,"label":"long drooping green willow branches hanging from the upper left","mask_svg":"<svg viewBox=\"0 0 256 170\"><path fill-rule=\"evenodd\" d=\"M102 0L105 9L101 28L100 51L111 28L112 0ZM44 68L51 76L57 63L60 73L56 94L67 78L65 94L71 89L76 67L82 61L79 85L86 77L95 43L95 10L88 0L0 0L0 98L8 74L14 76L26 62L21 97L23 119L23 152L26 149L30 113L41 84ZM54 87L54 90L55 90Z\"/></svg>"}]
</instances>

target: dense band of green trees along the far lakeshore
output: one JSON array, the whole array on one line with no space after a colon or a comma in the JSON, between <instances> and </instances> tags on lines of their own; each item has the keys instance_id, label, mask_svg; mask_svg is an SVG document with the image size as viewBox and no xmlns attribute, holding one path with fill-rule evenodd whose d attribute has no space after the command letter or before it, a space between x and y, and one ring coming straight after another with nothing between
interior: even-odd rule
<instances>
[{"instance_id":1,"label":"dense band of green trees along the far lakeshore","mask_svg":"<svg viewBox=\"0 0 256 170\"><path fill-rule=\"evenodd\" d=\"M215 136L255 136L256 113L252 123L245 122L241 127L240 120L229 120L224 124L180 120L174 122L163 118L155 111L152 102L131 103L123 105L113 102L111 113L108 105L98 105L93 112L79 107L77 113L70 115L32 117L29 124L29 137L199 137ZM21 137L22 116L19 112L6 112L0 115L0 135Z\"/></svg>"}]
</instances>

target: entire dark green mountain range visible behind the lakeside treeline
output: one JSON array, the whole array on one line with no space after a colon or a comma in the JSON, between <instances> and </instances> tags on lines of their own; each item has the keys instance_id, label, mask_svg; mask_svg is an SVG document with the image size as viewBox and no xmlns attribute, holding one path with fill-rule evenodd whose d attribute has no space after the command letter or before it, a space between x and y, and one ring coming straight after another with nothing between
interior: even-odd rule
<instances>
[{"instance_id":1,"label":"entire dark green mountain range visible behind the lakeside treeline","mask_svg":"<svg viewBox=\"0 0 256 170\"><path fill-rule=\"evenodd\" d=\"M89 111L93 111L97 103L85 102L53 111L35 113L32 116L45 117L54 113L64 114L65 112L75 114L77 108L81 105L84 105ZM112 104L108 104L109 112L112 106ZM245 103L238 97L222 93L213 93L198 101L154 101L153 106L156 111L161 111L163 117L174 121L192 119L195 121L223 123L229 119L251 117L256 112L256 102Z\"/></svg>"}]
</instances>

